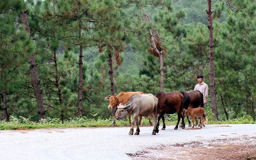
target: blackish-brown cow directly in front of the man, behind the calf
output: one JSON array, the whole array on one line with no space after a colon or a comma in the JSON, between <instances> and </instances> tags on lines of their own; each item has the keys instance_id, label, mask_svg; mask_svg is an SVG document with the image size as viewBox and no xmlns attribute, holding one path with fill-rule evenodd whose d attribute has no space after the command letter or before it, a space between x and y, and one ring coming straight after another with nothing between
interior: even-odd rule
<instances>
[{"instance_id":1,"label":"blackish-brown cow directly in front of the man, behind the calf","mask_svg":"<svg viewBox=\"0 0 256 160\"><path fill-rule=\"evenodd\" d=\"M204 107L204 99L203 94L199 90L193 90L193 91L180 91L181 94L184 96L183 101L183 108L188 110L189 108L198 108L198 107ZM188 116L187 116L188 118ZM205 118L205 115L204 115ZM191 127L191 121L188 118L188 126ZM198 124L198 121L196 119L196 125ZM183 125L180 125L182 127Z\"/></svg>"}]
</instances>

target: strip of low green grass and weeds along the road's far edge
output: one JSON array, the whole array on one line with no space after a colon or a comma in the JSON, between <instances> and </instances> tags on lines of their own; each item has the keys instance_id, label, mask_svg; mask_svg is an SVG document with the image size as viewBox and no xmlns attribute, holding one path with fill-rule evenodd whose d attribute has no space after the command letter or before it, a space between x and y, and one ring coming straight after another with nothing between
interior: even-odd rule
<instances>
[{"instance_id":1,"label":"strip of low green grass and weeds along the road's far edge","mask_svg":"<svg viewBox=\"0 0 256 160\"><path fill-rule=\"evenodd\" d=\"M209 108L206 108L206 114L208 118L208 124L256 124L256 121L253 121L251 115L244 115L240 118L229 119L226 121L215 121L214 114ZM153 121L153 119L151 119ZM31 120L31 117L22 117L18 118L13 115L10 116L10 121L0 121L0 130L21 130L21 129L45 129L45 128L72 128L72 127L110 127L113 122L113 117L101 118L98 116L98 113L91 114L91 117L74 117L69 118L65 121L61 121L59 118L45 118L41 119L38 122ZM165 115L166 125L176 125L177 123L177 114L166 114ZM185 118L185 123L188 124L187 118ZM162 120L160 121L160 125ZM116 121L116 126L128 126L128 118L125 118L122 121ZM148 119L144 117L144 126L149 126Z\"/></svg>"}]
</instances>

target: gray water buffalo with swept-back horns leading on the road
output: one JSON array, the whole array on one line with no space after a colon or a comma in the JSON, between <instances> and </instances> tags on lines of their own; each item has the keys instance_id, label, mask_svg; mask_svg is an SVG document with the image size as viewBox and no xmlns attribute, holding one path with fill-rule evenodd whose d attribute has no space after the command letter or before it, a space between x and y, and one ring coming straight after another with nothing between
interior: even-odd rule
<instances>
[{"instance_id":1,"label":"gray water buffalo with swept-back horns leading on the road","mask_svg":"<svg viewBox=\"0 0 256 160\"><path fill-rule=\"evenodd\" d=\"M132 119L132 127L130 129L129 135L133 134L133 126L136 122L136 132L135 135L140 134L140 129L139 129L139 121L138 121L138 116L148 116L152 114L153 117L153 132L152 134L155 135L156 133L159 132L159 130L156 128L156 123L157 123L157 103L158 99L153 96L152 94L135 94L133 95L127 103L124 105L122 103L117 106L118 114L116 119L120 120L125 117L125 115L131 113L133 115Z\"/></svg>"}]
</instances>

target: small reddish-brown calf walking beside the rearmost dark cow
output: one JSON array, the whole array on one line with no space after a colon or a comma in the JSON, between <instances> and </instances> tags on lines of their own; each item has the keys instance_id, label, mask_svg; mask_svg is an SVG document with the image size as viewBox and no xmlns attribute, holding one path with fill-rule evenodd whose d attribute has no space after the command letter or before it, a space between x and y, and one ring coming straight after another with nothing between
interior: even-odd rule
<instances>
[{"instance_id":1,"label":"small reddish-brown calf walking beside the rearmost dark cow","mask_svg":"<svg viewBox=\"0 0 256 160\"><path fill-rule=\"evenodd\" d=\"M188 110L184 109L184 116L192 117L192 122L193 122L192 128L195 126L194 120L197 119L197 117L200 117L200 119L201 119L200 128L202 128L202 126L204 126L204 117L203 117L203 115L206 115L206 114L204 113L204 108L201 108L201 107L199 107L199 108L189 108Z\"/></svg>"}]
</instances>

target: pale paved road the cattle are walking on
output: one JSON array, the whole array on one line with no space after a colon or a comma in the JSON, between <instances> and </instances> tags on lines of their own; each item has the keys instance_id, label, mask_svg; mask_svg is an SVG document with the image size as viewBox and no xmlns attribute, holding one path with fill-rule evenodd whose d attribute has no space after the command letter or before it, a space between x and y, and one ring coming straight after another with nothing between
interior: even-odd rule
<instances>
[{"instance_id":1,"label":"pale paved road the cattle are walking on","mask_svg":"<svg viewBox=\"0 0 256 160\"><path fill-rule=\"evenodd\" d=\"M129 127L2 130L0 155L1 160L123 160L130 159L126 153L146 147L256 136L255 124L206 125L203 129L178 130L174 127L166 126L166 130L160 130L155 136L151 135L151 126L140 127L140 135L132 136L128 135Z\"/></svg>"}]
</instances>

